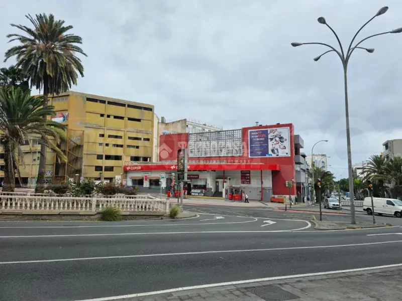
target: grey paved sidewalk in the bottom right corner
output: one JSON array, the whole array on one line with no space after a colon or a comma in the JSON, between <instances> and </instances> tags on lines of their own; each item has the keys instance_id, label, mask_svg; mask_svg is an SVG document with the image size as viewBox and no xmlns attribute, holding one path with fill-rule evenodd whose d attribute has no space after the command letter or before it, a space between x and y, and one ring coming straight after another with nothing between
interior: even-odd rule
<instances>
[{"instance_id":1,"label":"grey paved sidewalk in the bottom right corner","mask_svg":"<svg viewBox=\"0 0 402 301\"><path fill-rule=\"evenodd\" d=\"M290 279L178 290L127 297L124 301L397 301L400 300L402 268L299 275ZM283 277L276 277L283 278ZM241 282L241 281L238 281ZM244 281L243 281L244 282Z\"/></svg>"}]
</instances>

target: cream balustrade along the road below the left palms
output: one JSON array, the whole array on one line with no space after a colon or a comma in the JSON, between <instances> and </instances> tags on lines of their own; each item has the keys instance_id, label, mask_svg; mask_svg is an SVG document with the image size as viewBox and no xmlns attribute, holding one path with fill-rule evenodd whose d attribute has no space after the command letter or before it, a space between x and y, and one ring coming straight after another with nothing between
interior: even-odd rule
<instances>
[{"instance_id":1,"label":"cream balustrade along the road below the left palms","mask_svg":"<svg viewBox=\"0 0 402 301\"><path fill-rule=\"evenodd\" d=\"M96 214L108 206L123 214L167 214L166 200L138 198L74 198L27 195L0 195L0 214Z\"/></svg>"}]
</instances>

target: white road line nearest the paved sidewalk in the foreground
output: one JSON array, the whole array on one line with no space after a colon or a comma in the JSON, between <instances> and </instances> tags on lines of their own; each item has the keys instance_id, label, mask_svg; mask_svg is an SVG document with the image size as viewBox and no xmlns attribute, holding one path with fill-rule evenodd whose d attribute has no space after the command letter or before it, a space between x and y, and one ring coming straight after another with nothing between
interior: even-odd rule
<instances>
[{"instance_id":1,"label":"white road line nearest the paved sidewalk in the foreground","mask_svg":"<svg viewBox=\"0 0 402 301\"><path fill-rule=\"evenodd\" d=\"M203 285L176 287L176 288L170 288L170 289L140 292L140 293L133 293L133 294L127 294L127 295L113 296L113 297L94 298L94 299L85 299L85 300L76 300L76 301L113 301L113 300L119 300L119 299L125 299L125 298L143 297L143 296L150 296L150 295L156 295L156 294L161 294L161 293L170 293L170 292L192 290L192 289L202 289L202 288L227 286L227 285L238 285L238 284L262 282L262 281L276 281L276 280L285 280L285 279L293 279L293 278L316 277L316 276L334 275L334 274L341 274L341 273L354 273L354 272L370 271L370 270L376 270L376 269L387 269L387 268L401 267L401 266L402 266L402 263L397 263L397 264L379 265L379 266L371 266L371 267L353 268L353 269L347 269L347 270L335 270L335 271L328 271L328 272L247 279L247 280L239 280L239 281L229 281L229 282L221 282L221 283L211 283L211 284L203 284Z\"/></svg>"}]
</instances>

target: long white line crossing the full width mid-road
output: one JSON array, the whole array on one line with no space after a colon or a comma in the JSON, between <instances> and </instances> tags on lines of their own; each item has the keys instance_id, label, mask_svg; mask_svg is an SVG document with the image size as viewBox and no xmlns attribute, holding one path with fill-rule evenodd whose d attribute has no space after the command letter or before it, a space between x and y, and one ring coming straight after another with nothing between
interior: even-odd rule
<instances>
[{"instance_id":1,"label":"long white line crossing the full width mid-road","mask_svg":"<svg viewBox=\"0 0 402 301\"><path fill-rule=\"evenodd\" d=\"M0 262L0 264L63 262L63 261L121 259L121 258L143 258L143 257L178 256L178 255L243 253L243 252L244 253L247 253L247 252L268 252L268 251L286 251L286 250L303 250L303 249L327 249L327 248L344 248L344 247L380 245L380 244L385 244L385 243L399 243L399 242L402 242L402 240L381 241L381 242L366 242L366 243L354 243L354 244L341 244L341 245L326 245L326 246L306 246L306 247L246 249L246 250L221 250L221 251L199 251L199 252L159 253L159 254L143 254L143 255L102 256L102 257L78 257L78 258L43 259L43 260L26 260L26 261L3 261L3 262Z\"/></svg>"}]
</instances>

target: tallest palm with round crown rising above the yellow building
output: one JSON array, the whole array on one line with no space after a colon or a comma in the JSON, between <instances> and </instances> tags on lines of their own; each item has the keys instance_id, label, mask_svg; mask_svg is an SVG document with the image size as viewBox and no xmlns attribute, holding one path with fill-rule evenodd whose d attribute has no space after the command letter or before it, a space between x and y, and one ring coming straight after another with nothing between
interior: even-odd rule
<instances>
[{"instance_id":1,"label":"tallest palm with round crown rising above the yellow building","mask_svg":"<svg viewBox=\"0 0 402 301\"><path fill-rule=\"evenodd\" d=\"M77 73L84 76L84 68L76 54L86 56L77 46L82 44L79 36L68 34L73 27L65 26L63 20L55 20L52 14L27 15L33 28L12 24L22 34L10 34L9 42L20 45L6 52L7 61L16 56L17 67L29 77L31 87L43 90L43 106L48 104L48 95L58 95L77 84ZM41 144L41 156L36 192L43 192L45 182L46 146Z\"/></svg>"}]
</instances>

